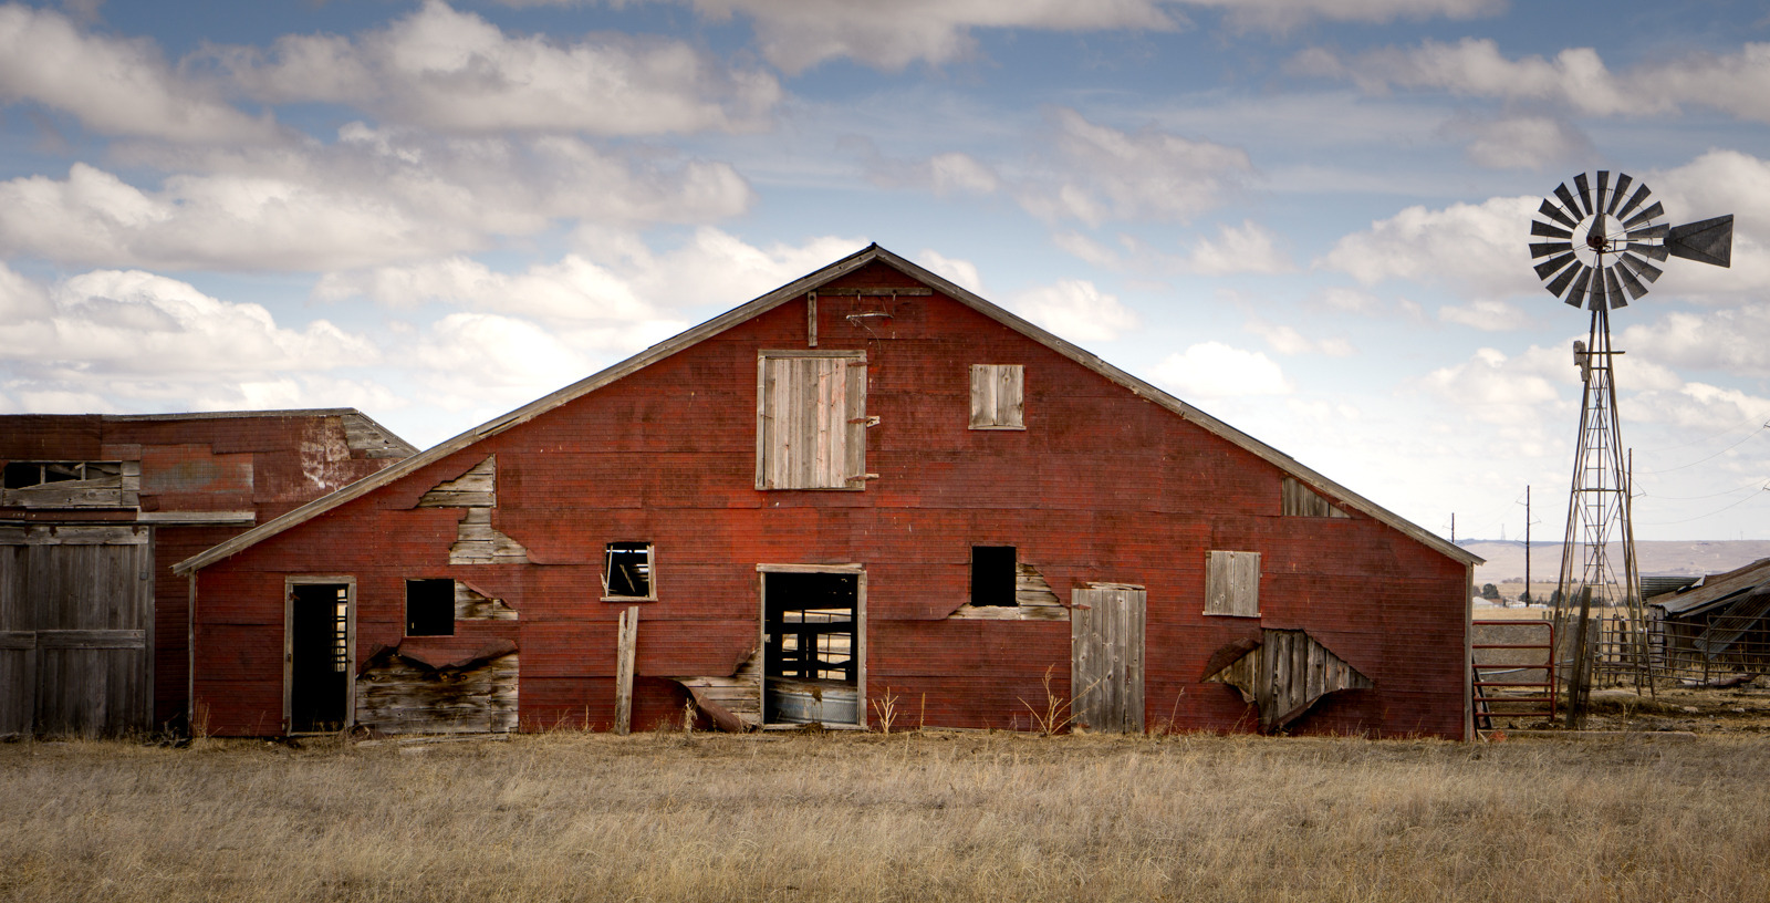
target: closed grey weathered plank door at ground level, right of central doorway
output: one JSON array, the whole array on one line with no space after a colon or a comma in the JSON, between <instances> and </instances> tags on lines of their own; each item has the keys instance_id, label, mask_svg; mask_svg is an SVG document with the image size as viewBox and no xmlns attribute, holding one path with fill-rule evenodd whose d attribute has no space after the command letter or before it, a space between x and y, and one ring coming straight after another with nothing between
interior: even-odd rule
<instances>
[{"instance_id":1,"label":"closed grey weathered plank door at ground level, right of central doorway","mask_svg":"<svg viewBox=\"0 0 1770 903\"><path fill-rule=\"evenodd\" d=\"M1069 712L1092 731L1143 733L1142 586L1071 590Z\"/></svg>"}]
</instances>

